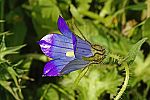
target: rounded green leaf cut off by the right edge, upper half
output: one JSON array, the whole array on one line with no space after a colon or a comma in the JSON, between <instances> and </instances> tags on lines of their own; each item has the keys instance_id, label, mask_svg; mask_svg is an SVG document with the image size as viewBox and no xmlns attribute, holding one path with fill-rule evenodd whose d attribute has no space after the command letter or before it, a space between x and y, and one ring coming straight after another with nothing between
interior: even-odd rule
<instances>
[{"instance_id":1,"label":"rounded green leaf cut off by the right edge, upper half","mask_svg":"<svg viewBox=\"0 0 150 100\"><path fill-rule=\"evenodd\" d=\"M150 18L148 18L145 22L145 24L143 25L143 36L147 37L150 41Z\"/></svg>"}]
</instances>

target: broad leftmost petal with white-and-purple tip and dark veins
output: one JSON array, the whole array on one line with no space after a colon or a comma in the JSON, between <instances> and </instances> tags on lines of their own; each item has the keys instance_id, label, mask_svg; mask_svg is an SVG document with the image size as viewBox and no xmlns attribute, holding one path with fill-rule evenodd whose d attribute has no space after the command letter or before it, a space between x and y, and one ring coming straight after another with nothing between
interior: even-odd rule
<instances>
[{"instance_id":1,"label":"broad leftmost petal with white-and-purple tip and dark veins","mask_svg":"<svg viewBox=\"0 0 150 100\"><path fill-rule=\"evenodd\" d=\"M66 58L67 52L74 51L73 40L60 34L48 34L44 36L39 41L39 45L43 53L53 59Z\"/></svg>"}]
</instances>

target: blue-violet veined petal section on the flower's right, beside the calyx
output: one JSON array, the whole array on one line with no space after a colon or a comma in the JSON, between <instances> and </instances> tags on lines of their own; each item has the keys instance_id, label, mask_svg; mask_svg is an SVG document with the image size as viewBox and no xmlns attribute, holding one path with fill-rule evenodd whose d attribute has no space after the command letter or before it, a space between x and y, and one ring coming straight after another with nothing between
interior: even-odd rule
<instances>
[{"instance_id":1,"label":"blue-violet veined petal section on the flower's right, beside the calyx","mask_svg":"<svg viewBox=\"0 0 150 100\"><path fill-rule=\"evenodd\" d=\"M90 57L92 56L92 51L91 51L91 45L80 39L79 37L76 37L77 39L77 44L76 44L76 51L75 51L75 56L78 59L82 59L83 56L85 57Z\"/></svg>"}]
</instances>

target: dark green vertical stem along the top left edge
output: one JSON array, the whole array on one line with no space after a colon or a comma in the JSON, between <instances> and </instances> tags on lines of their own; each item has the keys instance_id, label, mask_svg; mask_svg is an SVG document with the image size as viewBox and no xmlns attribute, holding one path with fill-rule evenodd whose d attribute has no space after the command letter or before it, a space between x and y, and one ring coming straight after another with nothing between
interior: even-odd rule
<instances>
[{"instance_id":1,"label":"dark green vertical stem along the top left edge","mask_svg":"<svg viewBox=\"0 0 150 100\"><path fill-rule=\"evenodd\" d=\"M4 18L4 0L1 0L0 2L1 11L0 11L0 20L3 20ZM4 22L0 22L0 32L2 33L4 31Z\"/></svg>"}]
</instances>

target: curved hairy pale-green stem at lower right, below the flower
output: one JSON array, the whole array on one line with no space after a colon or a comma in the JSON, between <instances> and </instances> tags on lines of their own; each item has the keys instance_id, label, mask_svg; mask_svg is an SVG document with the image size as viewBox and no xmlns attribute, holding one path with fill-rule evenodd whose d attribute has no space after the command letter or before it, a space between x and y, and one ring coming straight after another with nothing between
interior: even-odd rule
<instances>
[{"instance_id":1,"label":"curved hairy pale-green stem at lower right, below the flower","mask_svg":"<svg viewBox=\"0 0 150 100\"><path fill-rule=\"evenodd\" d=\"M127 63L125 63L125 71L126 71L126 77L125 77L125 80L124 80L124 84L122 85L122 88L120 89L119 93L114 98L114 100L119 100L121 98L122 94L124 93L124 91L127 88L128 81L129 81L129 67L128 67Z\"/></svg>"}]
</instances>

